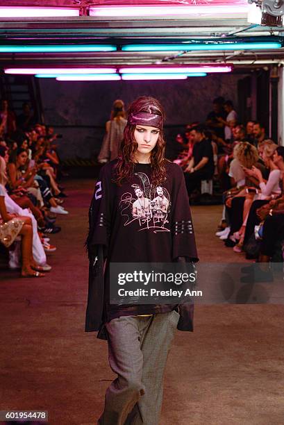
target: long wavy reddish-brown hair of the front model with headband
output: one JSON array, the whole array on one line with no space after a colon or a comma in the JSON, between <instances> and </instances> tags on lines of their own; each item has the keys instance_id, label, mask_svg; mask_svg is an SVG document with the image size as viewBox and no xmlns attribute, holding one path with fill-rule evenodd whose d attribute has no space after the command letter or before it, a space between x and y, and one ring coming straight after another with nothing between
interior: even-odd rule
<instances>
[{"instance_id":1,"label":"long wavy reddish-brown hair of the front model with headband","mask_svg":"<svg viewBox=\"0 0 284 425\"><path fill-rule=\"evenodd\" d=\"M160 115L165 120L165 113L162 105L157 99L153 97L139 97L128 108L129 114L137 113L151 113ZM118 158L117 165L115 167L115 183L122 185L122 181L130 181L133 177L133 169L135 164L135 152L137 151L138 144L135 141L134 131L135 124L127 124L124 128L124 140L121 146L121 155ZM162 135L162 131L159 132L158 141L156 146L151 151L150 164L151 164L151 181L154 185L158 185L165 181L166 169L165 169L165 140Z\"/></svg>"}]
</instances>

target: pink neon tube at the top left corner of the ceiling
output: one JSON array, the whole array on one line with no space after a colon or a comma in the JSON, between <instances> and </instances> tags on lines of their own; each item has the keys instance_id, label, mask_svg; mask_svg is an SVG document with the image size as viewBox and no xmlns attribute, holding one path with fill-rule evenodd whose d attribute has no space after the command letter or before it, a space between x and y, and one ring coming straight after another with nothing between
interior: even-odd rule
<instances>
[{"instance_id":1,"label":"pink neon tube at the top left corner of the ceiling","mask_svg":"<svg viewBox=\"0 0 284 425\"><path fill-rule=\"evenodd\" d=\"M78 9L71 8L2 8L0 17L57 17L57 16L79 16Z\"/></svg>"}]
</instances>

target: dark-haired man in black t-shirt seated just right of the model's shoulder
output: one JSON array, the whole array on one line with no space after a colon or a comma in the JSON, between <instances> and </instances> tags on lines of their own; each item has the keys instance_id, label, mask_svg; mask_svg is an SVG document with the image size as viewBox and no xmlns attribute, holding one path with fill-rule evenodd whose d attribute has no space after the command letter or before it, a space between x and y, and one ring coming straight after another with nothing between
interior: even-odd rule
<instances>
[{"instance_id":1,"label":"dark-haired man in black t-shirt seated just right of the model's shoulder","mask_svg":"<svg viewBox=\"0 0 284 425\"><path fill-rule=\"evenodd\" d=\"M214 174L213 149L210 140L206 139L206 127L198 125L192 128L194 147L192 159L185 169L187 193L199 187L201 180L209 180Z\"/></svg>"}]
</instances>

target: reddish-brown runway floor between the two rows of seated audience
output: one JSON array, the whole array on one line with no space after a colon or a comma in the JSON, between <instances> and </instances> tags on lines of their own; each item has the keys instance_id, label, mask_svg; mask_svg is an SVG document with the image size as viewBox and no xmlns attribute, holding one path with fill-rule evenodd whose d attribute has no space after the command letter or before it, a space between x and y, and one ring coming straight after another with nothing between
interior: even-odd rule
<instances>
[{"instance_id":1,"label":"reddish-brown runway floor between the two rows of seated audience","mask_svg":"<svg viewBox=\"0 0 284 425\"><path fill-rule=\"evenodd\" d=\"M106 342L84 332L93 182L66 187L70 213L51 235L52 271L23 279L0 270L0 410L48 410L51 425L93 425L115 378ZM199 256L243 261L215 237L221 212L193 208ZM160 425L284 424L283 330L282 305L196 306L194 333L177 332L169 354Z\"/></svg>"}]
</instances>

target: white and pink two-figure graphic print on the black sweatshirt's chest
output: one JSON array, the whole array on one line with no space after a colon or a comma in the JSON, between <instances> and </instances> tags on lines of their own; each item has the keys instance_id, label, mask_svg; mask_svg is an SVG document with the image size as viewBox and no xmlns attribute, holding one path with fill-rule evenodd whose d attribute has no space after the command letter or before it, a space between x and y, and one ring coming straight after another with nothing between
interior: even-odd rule
<instances>
[{"instance_id":1,"label":"white and pink two-figure graphic print on the black sweatshirt's chest","mask_svg":"<svg viewBox=\"0 0 284 425\"><path fill-rule=\"evenodd\" d=\"M119 202L121 215L125 218L124 226L138 222L139 231L169 232L165 227L169 223L171 206L169 192L162 186L152 185L147 174L137 172L134 175L139 183L131 185L133 192L124 192Z\"/></svg>"}]
</instances>

